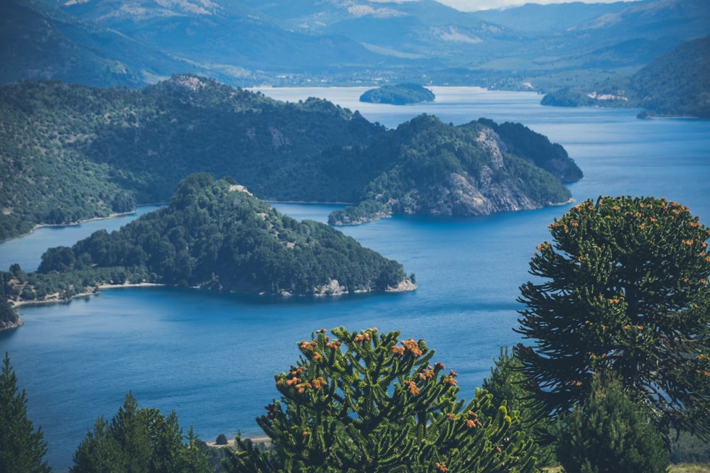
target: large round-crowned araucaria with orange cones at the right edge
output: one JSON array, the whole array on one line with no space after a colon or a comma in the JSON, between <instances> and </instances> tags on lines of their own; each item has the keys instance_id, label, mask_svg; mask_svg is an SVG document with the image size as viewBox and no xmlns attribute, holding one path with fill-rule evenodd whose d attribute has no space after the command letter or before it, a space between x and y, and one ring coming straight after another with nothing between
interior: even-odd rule
<instances>
[{"instance_id":1,"label":"large round-crowned araucaria with orange cones at the right edge","mask_svg":"<svg viewBox=\"0 0 710 473\"><path fill-rule=\"evenodd\" d=\"M521 286L516 355L545 413L568 411L614 372L670 429L710 437L710 230L653 197L600 197L550 225Z\"/></svg>"}]
</instances>

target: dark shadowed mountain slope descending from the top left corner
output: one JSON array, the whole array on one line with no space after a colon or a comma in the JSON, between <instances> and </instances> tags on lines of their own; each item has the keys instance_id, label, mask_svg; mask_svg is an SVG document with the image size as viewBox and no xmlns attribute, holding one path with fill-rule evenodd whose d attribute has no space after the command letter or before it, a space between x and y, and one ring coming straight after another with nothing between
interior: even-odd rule
<instances>
[{"instance_id":1,"label":"dark shadowed mountain slope descending from the top left corner","mask_svg":"<svg viewBox=\"0 0 710 473\"><path fill-rule=\"evenodd\" d=\"M97 87L141 87L171 70L205 72L136 42L30 0L0 4L0 83L60 79Z\"/></svg>"}]
</instances>

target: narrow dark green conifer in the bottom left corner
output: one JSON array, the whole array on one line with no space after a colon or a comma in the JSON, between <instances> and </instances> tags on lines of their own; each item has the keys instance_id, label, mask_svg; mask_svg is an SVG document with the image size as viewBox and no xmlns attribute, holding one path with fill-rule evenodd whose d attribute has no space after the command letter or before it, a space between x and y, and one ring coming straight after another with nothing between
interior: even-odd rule
<instances>
[{"instance_id":1,"label":"narrow dark green conifer in the bottom left corner","mask_svg":"<svg viewBox=\"0 0 710 473\"><path fill-rule=\"evenodd\" d=\"M17 376L5 352L0 374L0 472L51 472L43 460L47 453L42 429L27 417L27 396L18 393Z\"/></svg>"}]
</instances>

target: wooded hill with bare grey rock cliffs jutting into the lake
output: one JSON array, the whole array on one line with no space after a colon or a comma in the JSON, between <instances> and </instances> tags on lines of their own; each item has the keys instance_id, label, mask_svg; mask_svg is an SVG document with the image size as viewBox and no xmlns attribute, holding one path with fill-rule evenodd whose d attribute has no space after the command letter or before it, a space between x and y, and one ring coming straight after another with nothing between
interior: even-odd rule
<instances>
[{"instance_id":1,"label":"wooded hill with bare grey rock cliffs jutting into the lake","mask_svg":"<svg viewBox=\"0 0 710 473\"><path fill-rule=\"evenodd\" d=\"M359 204L331 213L332 225L392 213L488 215L563 204L571 194L562 182L582 175L562 146L519 123L486 119L453 126L422 115L373 138L367 151L395 159Z\"/></svg>"}]
</instances>

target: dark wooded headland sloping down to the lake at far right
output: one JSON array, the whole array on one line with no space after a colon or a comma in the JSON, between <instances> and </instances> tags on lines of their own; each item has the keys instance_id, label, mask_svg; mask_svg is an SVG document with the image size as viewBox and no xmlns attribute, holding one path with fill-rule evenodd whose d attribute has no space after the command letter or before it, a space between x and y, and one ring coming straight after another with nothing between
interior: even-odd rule
<instances>
[{"instance_id":1,"label":"dark wooded headland sloping down to the lake at far right","mask_svg":"<svg viewBox=\"0 0 710 473\"><path fill-rule=\"evenodd\" d=\"M545 95L542 104L644 108L642 118L710 118L710 36L683 43L631 77L560 89Z\"/></svg>"}]
</instances>

